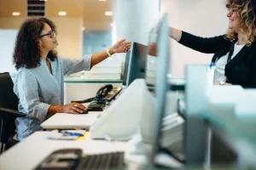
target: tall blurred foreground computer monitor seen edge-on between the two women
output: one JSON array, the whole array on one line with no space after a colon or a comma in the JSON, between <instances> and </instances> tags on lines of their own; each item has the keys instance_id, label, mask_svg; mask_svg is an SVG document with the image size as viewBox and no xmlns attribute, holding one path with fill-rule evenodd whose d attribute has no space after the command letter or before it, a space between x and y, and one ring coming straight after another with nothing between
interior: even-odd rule
<instances>
[{"instance_id":1,"label":"tall blurred foreground computer monitor seen edge-on between the two women","mask_svg":"<svg viewBox=\"0 0 256 170\"><path fill-rule=\"evenodd\" d=\"M160 150L161 138L161 123L166 109L166 94L168 91L168 78L169 71L169 29L167 26L167 14L164 15L160 21L160 29L158 32L155 45L157 46L156 53L156 74L154 83L154 122L153 122L153 152L150 155L150 161L155 164L155 156ZM149 42L149 45L151 42Z\"/></svg>"}]
</instances>

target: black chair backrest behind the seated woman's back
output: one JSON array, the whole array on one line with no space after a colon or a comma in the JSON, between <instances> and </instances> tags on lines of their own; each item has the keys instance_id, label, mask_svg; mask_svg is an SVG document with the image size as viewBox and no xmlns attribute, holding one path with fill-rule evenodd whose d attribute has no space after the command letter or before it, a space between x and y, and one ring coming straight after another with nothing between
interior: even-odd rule
<instances>
[{"instance_id":1,"label":"black chair backrest behind the seated woman's back","mask_svg":"<svg viewBox=\"0 0 256 170\"><path fill-rule=\"evenodd\" d=\"M0 107L17 111L19 99L13 88L14 82L9 72L0 73Z\"/></svg>"}]
</instances>

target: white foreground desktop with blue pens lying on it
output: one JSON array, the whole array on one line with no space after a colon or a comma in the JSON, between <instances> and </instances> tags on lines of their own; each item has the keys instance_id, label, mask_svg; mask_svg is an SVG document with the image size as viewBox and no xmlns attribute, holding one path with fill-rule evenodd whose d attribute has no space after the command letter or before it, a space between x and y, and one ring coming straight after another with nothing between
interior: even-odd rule
<instances>
[{"instance_id":1,"label":"white foreground desktop with blue pens lying on it","mask_svg":"<svg viewBox=\"0 0 256 170\"><path fill-rule=\"evenodd\" d=\"M84 155L106 153L111 151L125 151L125 162L130 166L134 166L134 161L143 161L146 156L130 155L134 145L129 142L108 142L105 140L91 140L85 141L63 141L63 140L47 140L44 135L51 132L37 132L33 133L23 142L16 144L3 155L0 156L0 169L16 170L26 169L30 170L38 166L38 163L43 161L46 156L49 156L54 150L65 148L79 148L82 149ZM15 157L15 159L14 159ZM180 166L173 160L174 165ZM134 168L133 168L134 169Z\"/></svg>"}]
</instances>

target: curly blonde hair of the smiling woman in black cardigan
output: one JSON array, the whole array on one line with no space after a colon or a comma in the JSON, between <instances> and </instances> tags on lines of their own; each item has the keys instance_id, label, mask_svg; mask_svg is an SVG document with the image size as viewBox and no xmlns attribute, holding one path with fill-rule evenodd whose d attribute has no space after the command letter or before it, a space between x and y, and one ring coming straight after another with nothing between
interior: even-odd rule
<instances>
[{"instance_id":1,"label":"curly blonde hair of the smiling woman in black cardigan","mask_svg":"<svg viewBox=\"0 0 256 170\"><path fill-rule=\"evenodd\" d=\"M236 10L240 18L240 31L245 35L243 40L247 45L254 42L256 36L256 3L254 0L228 0L226 8ZM238 37L236 31L229 30L226 38L230 41L235 41Z\"/></svg>"}]
</instances>

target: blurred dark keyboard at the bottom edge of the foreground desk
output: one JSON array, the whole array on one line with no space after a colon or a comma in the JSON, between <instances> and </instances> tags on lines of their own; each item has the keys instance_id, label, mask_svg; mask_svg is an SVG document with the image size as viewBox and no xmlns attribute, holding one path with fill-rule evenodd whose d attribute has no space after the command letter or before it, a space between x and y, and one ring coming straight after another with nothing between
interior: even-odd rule
<instances>
[{"instance_id":1,"label":"blurred dark keyboard at the bottom edge of the foreground desk","mask_svg":"<svg viewBox=\"0 0 256 170\"><path fill-rule=\"evenodd\" d=\"M78 170L97 170L125 167L124 152L113 152L80 158Z\"/></svg>"}]
</instances>

